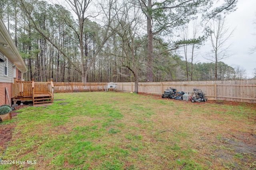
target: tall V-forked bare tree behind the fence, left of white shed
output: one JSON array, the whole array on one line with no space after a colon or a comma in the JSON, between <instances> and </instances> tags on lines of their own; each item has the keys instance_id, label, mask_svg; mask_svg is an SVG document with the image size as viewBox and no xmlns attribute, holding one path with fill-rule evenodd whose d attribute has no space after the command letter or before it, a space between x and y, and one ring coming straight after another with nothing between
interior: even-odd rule
<instances>
[{"instance_id":1,"label":"tall V-forked bare tree behind the fence, left of white shed","mask_svg":"<svg viewBox=\"0 0 256 170\"><path fill-rule=\"evenodd\" d=\"M85 20L88 19L88 17L95 17L95 16L90 16L86 12L88 11L89 4L92 2L92 0L66 0L70 7L72 8L73 12L76 14L77 19L78 19L78 29L76 29L76 25L69 25L72 27L72 29L75 31L78 41L80 43L80 55L81 55L81 74L82 74L82 82L87 82L87 75L90 72L90 68L93 66L96 57L104 47L104 44L108 40L112 33L110 33L110 25L112 23L112 15L111 15L111 10L114 9L114 5L116 4L116 0L108 0L100 2L98 5L101 6L101 11L103 12L103 16L106 19L104 25L104 29L102 29L102 37L100 43L95 47L96 49L93 49L92 51L88 52L87 51L87 44L85 44L84 47L84 39L83 37L86 36L84 34L84 24ZM97 14L97 16L100 14ZM104 21L102 22L104 23ZM85 42L86 43L86 42ZM85 48L85 51L84 51ZM90 54L92 53L90 57Z\"/></svg>"}]
</instances>

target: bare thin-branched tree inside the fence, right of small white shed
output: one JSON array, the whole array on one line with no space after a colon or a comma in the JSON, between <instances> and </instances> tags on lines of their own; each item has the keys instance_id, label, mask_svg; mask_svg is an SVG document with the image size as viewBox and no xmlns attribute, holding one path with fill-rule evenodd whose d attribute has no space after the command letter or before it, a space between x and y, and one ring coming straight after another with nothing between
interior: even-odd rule
<instances>
[{"instance_id":1,"label":"bare thin-branched tree inside the fence, right of small white shed","mask_svg":"<svg viewBox=\"0 0 256 170\"><path fill-rule=\"evenodd\" d=\"M141 14L138 8L132 4L124 3L120 8L120 15L116 15L116 22L118 27L115 32L120 37L120 48L123 54L119 56L120 66L128 68L133 76L135 82L134 92L138 93L139 83L139 70L143 65L143 37L140 31L141 27Z\"/></svg>"}]
</instances>

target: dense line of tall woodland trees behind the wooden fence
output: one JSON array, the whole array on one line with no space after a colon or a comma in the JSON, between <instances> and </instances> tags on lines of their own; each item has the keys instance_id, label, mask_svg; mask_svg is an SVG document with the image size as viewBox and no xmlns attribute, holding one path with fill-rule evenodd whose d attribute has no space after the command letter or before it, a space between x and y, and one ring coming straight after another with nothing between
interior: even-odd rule
<instances>
[{"instance_id":1,"label":"dense line of tall woodland trees behind the wooden fence","mask_svg":"<svg viewBox=\"0 0 256 170\"><path fill-rule=\"evenodd\" d=\"M0 17L28 67L25 80L233 80L244 78L245 70L223 63L223 54L211 63L193 61L195 50L216 32L211 24L222 23L222 14L235 10L236 2L1 0ZM198 15L202 20L188 27Z\"/></svg>"}]
</instances>

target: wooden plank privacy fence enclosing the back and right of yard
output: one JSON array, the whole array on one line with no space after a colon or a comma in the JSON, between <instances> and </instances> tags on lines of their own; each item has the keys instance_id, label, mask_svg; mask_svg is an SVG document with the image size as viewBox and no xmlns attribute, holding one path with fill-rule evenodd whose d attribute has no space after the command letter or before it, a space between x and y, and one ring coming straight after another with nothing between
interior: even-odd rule
<instances>
[{"instance_id":1,"label":"wooden plank privacy fence enclosing the back and right of yard","mask_svg":"<svg viewBox=\"0 0 256 170\"><path fill-rule=\"evenodd\" d=\"M54 83L54 92L105 91L107 83ZM256 103L256 80L186 81L186 82L140 82L138 92L163 94L165 89L176 88L192 94L193 88L201 89L212 100L228 100ZM116 91L134 92L134 82L116 82Z\"/></svg>"}]
</instances>

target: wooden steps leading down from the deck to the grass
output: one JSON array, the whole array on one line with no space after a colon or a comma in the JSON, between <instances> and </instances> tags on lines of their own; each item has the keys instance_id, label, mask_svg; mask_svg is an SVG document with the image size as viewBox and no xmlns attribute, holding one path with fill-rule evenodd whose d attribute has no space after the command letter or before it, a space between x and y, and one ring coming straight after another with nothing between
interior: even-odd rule
<instances>
[{"instance_id":1,"label":"wooden steps leading down from the deck to the grass","mask_svg":"<svg viewBox=\"0 0 256 170\"><path fill-rule=\"evenodd\" d=\"M36 92L33 95L33 106L48 106L53 104L52 94L49 92Z\"/></svg>"}]
</instances>

